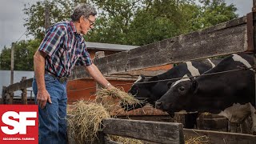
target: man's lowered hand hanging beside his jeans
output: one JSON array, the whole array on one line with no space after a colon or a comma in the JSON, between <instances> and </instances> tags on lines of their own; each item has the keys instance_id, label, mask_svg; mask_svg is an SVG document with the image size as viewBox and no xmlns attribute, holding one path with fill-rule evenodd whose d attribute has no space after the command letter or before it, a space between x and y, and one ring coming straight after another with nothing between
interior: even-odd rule
<instances>
[{"instance_id":1,"label":"man's lowered hand hanging beside his jeans","mask_svg":"<svg viewBox=\"0 0 256 144\"><path fill-rule=\"evenodd\" d=\"M37 102L38 106L43 109L46 106L46 102L51 103L50 94L47 90L38 90Z\"/></svg>"}]
</instances>

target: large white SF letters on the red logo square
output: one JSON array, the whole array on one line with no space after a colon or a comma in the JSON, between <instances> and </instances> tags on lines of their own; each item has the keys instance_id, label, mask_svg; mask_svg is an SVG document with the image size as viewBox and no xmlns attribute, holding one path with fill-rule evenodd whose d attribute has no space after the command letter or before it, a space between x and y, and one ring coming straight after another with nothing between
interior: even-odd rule
<instances>
[{"instance_id":1,"label":"large white SF letters on the red logo square","mask_svg":"<svg viewBox=\"0 0 256 144\"><path fill-rule=\"evenodd\" d=\"M19 122L10 119L13 117L19 119ZM6 125L13 126L13 129L9 129L8 126L1 126L1 130L5 134L26 134L26 126L35 126L35 120L27 120L26 118L37 118L37 112L15 112L7 111L2 114L2 122Z\"/></svg>"}]
</instances>

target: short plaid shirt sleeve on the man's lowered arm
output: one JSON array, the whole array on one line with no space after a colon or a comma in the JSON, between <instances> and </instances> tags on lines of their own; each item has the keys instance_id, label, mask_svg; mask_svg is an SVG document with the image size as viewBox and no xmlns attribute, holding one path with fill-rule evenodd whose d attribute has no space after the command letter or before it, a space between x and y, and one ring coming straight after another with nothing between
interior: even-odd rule
<instances>
[{"instance_id":1,"label":"short plaid shirt sleeve on the man's lowered arm","mask_svg":"<svg viewBox=\"0 0 256 144\"><path fill-rule=\"evenodd\" d=\"M47 31L38 50L46 53L50 57L61 46L64 31L60 26L53 26Z\"/></svg>"}]
</instances>

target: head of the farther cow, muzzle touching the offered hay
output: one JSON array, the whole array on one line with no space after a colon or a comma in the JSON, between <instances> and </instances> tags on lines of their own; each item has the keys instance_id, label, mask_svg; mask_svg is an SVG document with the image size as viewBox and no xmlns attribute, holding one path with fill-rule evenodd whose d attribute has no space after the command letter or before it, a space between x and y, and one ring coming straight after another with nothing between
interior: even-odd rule
<instances>
[{"instance_id":1,"label":"head of the farther cow, muzzle touching the offered hay","mask_svg":"<svg viewBox=\"0 0 256 144\"><path fill-rule=\"evenodd\" d=\"M146 103L153 104L158 98L155 98L154 94L152 94L151 89L157 83L158 77L154 76L152 78L145 78L144 75L140 75L138 80L134 82L133 86L130 87L128 91L129 94L132 94L134 98L137 98L141 101L141 103L136 105L122 105L125 110L134 110L138 108L142 108L146 105Z\"/></svg>"}]
</instances>

